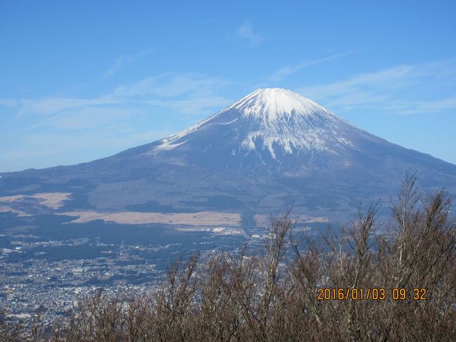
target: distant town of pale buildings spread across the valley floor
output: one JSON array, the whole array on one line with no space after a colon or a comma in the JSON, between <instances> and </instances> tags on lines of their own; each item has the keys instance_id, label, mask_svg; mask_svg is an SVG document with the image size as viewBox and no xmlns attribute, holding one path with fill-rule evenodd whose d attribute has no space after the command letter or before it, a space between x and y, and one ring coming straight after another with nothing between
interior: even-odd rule
<instances>
[{"instance_id":1,"label":"distant town of pale buildings spread across the valley floor","mask_svg":"<svg viewBox=\"0 0 456 342\"><path fill-rule=\"evenodd\" d=\"M194 229L177 231L192 234L189 230ZM192 244L194 251L202 251L202 259L215 251L208 246L217 237L238 237L239 242L239 237L245 239L247 234L227 227L199 231L205 233L206 239ZM255 228L248 236L250 246L259 246L267 237L264 230ZM34 235L9 238L11 246L0 248L0 306L8 308L7 317L26 325L32 324L33 316L41 311L43 323L50 326L58 317L69 315L78 298L92 296L100 289L112 295L150 294L170 264L182 255L182 243L112 244L87 237L41 241ZM228 250L240 245L224 247ZM88 251L91 257L70 255L72 250ZM68 258L60 259L58 254L62 251ZM166 258L157 258L160 254L166 254ZM153 256L156 263L147 256Z\"/></svg>"}]
</instances>

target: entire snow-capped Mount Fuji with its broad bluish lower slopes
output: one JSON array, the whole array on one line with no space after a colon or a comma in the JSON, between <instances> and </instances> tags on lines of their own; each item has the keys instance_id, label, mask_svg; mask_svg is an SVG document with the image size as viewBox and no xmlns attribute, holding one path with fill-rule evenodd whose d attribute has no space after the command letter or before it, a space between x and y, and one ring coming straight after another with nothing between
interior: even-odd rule
<instances>
[{"instance_id":1,"label":"entire snow-capped Mount Fuji with its broad bluish lower slopes","mask_svg":"<svg viewBox=\"0 0 456 342\"><path fill-rule=\"evenodd\" d=\"M112 220L114 213L225 213L239 215L236 224L259 225L260 216L293 205L302 217L339 220L360 201L389 199L408 170L424 189L456 194L455 165L373 136L297 93L263 88L112 157L1 173L0 210L86 221L109 221L108 213ZM55 205L46 205L52 198Z\"/></svg>"}]
</instances>

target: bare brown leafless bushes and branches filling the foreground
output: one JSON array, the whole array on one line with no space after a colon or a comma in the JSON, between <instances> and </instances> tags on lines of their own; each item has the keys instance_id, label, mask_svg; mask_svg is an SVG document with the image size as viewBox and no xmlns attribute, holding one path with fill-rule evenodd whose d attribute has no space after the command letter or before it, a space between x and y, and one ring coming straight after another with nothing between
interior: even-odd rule
<instances>
[{"instance_id":1,"label":"bare brown leafless bushes and branches filling the foreground","mask_svg":"<svg viewBox=\"0 0 456 342\"><path fill-rule=\"evenodd\" d=\"M334 232L297 234L271 218L263 252L178 260L152 296L82 298L51 335L5 320L2 341L456 341L456 235L450 197L406 174L391 220L378 204ZM318 289L384 289L384 299L318 300ZM407 289L394 299L394 289ZM413 299L425 289L426 299ZM352 294L354 292L351 292ZM396 291L398 294L399 291ZM339 296L340 294L337 294ZM422 294L418 294L421 296ZM15 339L17 338L17 339Z\"/></svg>"}]
</instances>

